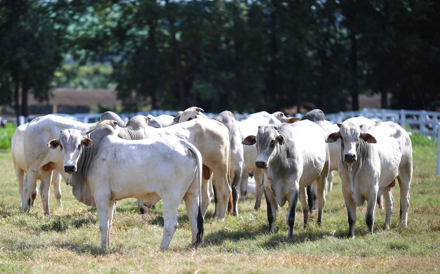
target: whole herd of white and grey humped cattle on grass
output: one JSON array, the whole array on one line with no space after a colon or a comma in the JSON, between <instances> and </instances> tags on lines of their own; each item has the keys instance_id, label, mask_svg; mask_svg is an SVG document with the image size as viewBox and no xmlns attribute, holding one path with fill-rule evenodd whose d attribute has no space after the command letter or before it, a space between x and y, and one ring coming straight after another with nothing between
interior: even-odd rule
<instances>
[{"instance_id":1,"label":"whole herd of white and grey humped cattle on grass","mask_svg":"<svg viewBox=\"0 0 440 274\"><path fill-rule=\"evenodd\" d=\"M138 115L127 123L110 111L91 124L41 116L19 126L11 140L22 208L33 206L40 179L44 214L50 214L50 185L61 203L62 177L78 201L97 208L101 245L106 247L118 200L138 199L141 213L162 200L160 248L165 249L178 227L177 209L183 200L191 243L198 247L212 198L218 219L238 215L238 201L240 196L245 199L247 180L253 176L255 209L260 208L264 193L269 230L275 232L277 209L287 202L286 222L292 237L298 199L304 226L312 209L318 211L321 224L326 193L337 170L348 212L348 237L355 237L356 206L365 201L365 221L373 232L374 210L381 196L384 228L389 228L396 178L400 220L407 225L412 146L402 127L365 117L333 125L320 110L298 120L265 111L242 121L230 111L209 118L200 107L190 107L177 117Z\"/></svg>"}]
</instances>

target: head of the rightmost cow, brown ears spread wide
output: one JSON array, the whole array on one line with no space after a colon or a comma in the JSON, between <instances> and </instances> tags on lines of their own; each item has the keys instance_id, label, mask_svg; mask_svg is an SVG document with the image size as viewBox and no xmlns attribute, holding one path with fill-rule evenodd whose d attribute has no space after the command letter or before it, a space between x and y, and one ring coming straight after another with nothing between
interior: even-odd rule
<instances>
[{"instance_id":1,"label":"head of the rightmost cow, brown ears spread wide","mask_svg":"<svg viewBox=\"0 0 440 274\"><path fill-rule=\"evenodd\" d=\"M361 131L363 124L344 122L338 123L337 126L339 126L339 132L331 133L326 142L333 143L341 138L341 157L346 163L356 162L360 142L376 143L376 139L370 133Z\"/></svg>"}]
</instances>

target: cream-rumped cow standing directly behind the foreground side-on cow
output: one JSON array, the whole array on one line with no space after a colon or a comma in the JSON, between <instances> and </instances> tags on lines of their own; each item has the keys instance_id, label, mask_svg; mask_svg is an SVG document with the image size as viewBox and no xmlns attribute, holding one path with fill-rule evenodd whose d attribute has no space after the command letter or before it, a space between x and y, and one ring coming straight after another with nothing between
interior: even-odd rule
<instances>
[{"instance_id":1,"label":"cream-rumped cow standing directly behind the foreground side-on cow","mask_svg":"<svg viewBox=\"0 0 440 274\"><path fill-rule=\"evenodd\" d=\"M125 128L116 127L118 137L125 140L140 140L153 137L175 136L193 144L202 154L203 183L202 183L202 212L205 215L211 196L209 194L209 179L215 175L218 203L215 215L224 219L231 194L229 185L230 169L230 139L229 130L222 123L209 119L194 119L164 128L148 126L148 118L137 115L131 118ZM229 208L232 206L231 205ZM141 208L142 210L142 208Z\"/></svg>"}]
</instances>

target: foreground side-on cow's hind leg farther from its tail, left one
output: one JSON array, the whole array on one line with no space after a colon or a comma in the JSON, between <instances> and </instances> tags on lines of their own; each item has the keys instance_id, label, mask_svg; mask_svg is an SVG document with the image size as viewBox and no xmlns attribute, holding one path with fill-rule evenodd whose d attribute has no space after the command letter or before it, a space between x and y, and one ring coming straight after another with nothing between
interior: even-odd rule
<instances>
[{"instance_id":1,"label":"foreground side-on cow's hind leg farther from its tail, left one","mask_svg":"<svg viewBox=\"0 0 440 274\"><path fill-rule=\"evenodd\" d=\"M179 208L180 199L162 199L164 207L164 233L162 236L161 250L168 248L171 238L176 232L179 223L177 222L177 209Z\"/></svg>"}]
</instances>

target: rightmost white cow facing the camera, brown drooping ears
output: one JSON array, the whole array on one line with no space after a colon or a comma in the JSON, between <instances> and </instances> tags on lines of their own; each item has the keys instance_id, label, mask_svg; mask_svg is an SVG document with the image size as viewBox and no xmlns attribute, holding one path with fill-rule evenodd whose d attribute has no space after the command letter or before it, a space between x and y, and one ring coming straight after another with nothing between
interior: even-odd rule
<instances>
[{"instance_id":1,"label":"rightmost white cow facing the camera, brown drooping ears","mask_svg":"<svg viewBox=\"0 0 440 274\"><path fill-rule=\"evenodd\" d=\"M356 205L367 201L365 222L373 233L376 200L384 189L385 223L389 228L392 212L391 188L397 177L400 185L400 220L407 226L409 188L412 178L412 145L408 133L394 122L379 122L369 133L361 131L362 124L337 124L339 132L331 133L327 142L341 139L341 160L338 172L348 212L348 237L354 238Z\"/></svg>"}]
</instances>

